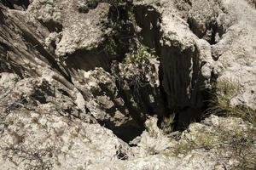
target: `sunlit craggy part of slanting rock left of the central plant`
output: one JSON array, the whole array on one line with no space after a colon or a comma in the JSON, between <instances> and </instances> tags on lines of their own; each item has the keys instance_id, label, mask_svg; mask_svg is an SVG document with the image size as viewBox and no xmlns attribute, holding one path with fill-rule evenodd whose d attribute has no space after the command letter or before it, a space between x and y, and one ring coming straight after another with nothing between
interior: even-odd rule
<instances>
[{"instance_id":1,"label":"sunlit craggy part of slanting rock left of the central plant","mask_svg":"<svg viewBox=\"0 0 256 170\"><path fill-rule=\"evenodd\" d=\"M115 78L102 68L94 71L80 71L83 83L75 82L80 91L87 92L86 107L100 122L111 122L119 127L131 121L132 117L119 96ZM108 125L107 125L108 126Z\"/></svg>"}]
</instances>

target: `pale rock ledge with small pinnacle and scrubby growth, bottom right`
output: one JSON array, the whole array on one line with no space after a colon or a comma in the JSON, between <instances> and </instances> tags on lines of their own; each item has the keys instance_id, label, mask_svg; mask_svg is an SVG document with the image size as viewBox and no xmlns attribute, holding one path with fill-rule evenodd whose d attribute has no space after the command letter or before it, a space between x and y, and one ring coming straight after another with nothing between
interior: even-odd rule
<instances>
[{"instance_id":1,"label":"pale rock ledge with small pinnacle and scrubby growth, bottom right","mask_svg":"<svg viewBox=\"0 0 256 170\"><path fill-rule=\"evenodd\" d=\"M255 141L255 136L248 138L248 134L255 133L255 127L250 123L242 122L239 118L210 116L201 123L192 123L178 140L163 136L163 132L156 126L154 117L148 119L146 124L149 125L148 131L142 134L137 145L139 158L102 162L98 165L90 165L88 169L108 167L110 169L172 170L255 167L253 161L256 148L251 143ZM243 139L248 140L240 145L239 140ZM162 146L166 149L160 147L161 144L164 144ZM232 149L236 146L236 150Z\"/></svg>"}]
</instances>

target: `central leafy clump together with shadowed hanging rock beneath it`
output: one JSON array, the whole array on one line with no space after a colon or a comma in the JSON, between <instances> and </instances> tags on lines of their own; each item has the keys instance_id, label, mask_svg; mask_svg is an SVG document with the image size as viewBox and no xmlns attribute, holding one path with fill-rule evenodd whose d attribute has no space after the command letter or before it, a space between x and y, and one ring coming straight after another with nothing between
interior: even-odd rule
<instances>
[{"instance_id":1,"label":"central leafy clump together with shadowed hanging rock beneath it","mask_svg":"<svg viewBox=\"0 0 256 170\"><path fill-rule=\"evenodd\" d=\"M111 72L121 90L131 98L132 103L153 105L158 98L158 69L160 62L152 49L139 45L137 50L125 54L122 62L113 61ZM143 105L141 105L143 104Z\"/></svg>"}]
</instances>

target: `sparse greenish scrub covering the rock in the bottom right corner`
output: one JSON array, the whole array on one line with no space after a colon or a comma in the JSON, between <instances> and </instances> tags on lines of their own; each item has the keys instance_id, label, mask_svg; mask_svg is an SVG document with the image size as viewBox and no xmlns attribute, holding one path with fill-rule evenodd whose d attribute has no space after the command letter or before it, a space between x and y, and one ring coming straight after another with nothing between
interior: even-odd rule
<instances>
[{"instance_id":1,"label":"sparse greenish scrub covering the rock in the bottom right corner","mask_svg":"<svg viewBox=\"0 0 256 170\"><path fill-rule=\"evenodd\" d=\"M207 150L217 155L219 161L227 161L230 158L236 160L238 162L236 168L254 169L256 167L256 150L253 149L255 128L248 125L245 130L238 122L235 129L227 129L225 122L222 122L214 127L213 131L195 125L191 127L194 130L185 131L182 139L166 151L166 156L187 156L192 150Z\"/></svg>"}]
</instances>

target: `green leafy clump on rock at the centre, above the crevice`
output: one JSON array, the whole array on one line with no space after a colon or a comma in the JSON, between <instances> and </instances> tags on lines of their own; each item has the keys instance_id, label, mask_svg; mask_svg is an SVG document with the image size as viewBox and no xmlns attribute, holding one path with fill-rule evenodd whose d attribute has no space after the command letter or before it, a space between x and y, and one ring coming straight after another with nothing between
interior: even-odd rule
<instances>
[{"instance_id":1,"label":"green leafy clump on rock at the centre, above the crevice","mask_svg":"<svg viewBox=\"0 0 256 170\"><path fill-rule=\"evenodd\" d=\"M152 84L156 81L154 75L148 78L146 75L154 73L155 68L152 60L158 62L157 59L154 49L141 44L137 50L126 54L122 63L113 62L112 73L119 80L119 84L125 83L124 87L128 85L137 90L145 87L148 84L148 80Z\"/></svg>"}]
</instances>

